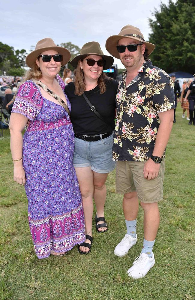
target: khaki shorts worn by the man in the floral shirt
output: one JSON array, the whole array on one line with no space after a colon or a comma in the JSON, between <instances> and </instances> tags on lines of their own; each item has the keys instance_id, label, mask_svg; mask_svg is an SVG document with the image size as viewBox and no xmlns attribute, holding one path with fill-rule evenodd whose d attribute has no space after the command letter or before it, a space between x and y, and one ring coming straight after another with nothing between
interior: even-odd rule
<instances>
[{"instance_id":1,"label":"khaki shorts worn by the man in the floral shirt","mask_svg":"<svg viewBox=\"0 0 195 300\"><path fill-rule=\"evenodd\" d=\"M142 202L153 203L163 200L165 159L162 158L158 176L147 180L143 175L145 161L116 162L116 193L126 194L137 191Z\"/></svg>"}]
</instances>

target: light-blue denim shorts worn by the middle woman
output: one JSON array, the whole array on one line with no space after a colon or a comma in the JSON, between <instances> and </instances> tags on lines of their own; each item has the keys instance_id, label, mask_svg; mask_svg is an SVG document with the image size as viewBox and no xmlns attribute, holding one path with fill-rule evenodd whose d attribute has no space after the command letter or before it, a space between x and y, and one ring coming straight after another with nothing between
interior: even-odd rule
<instances>
[{"instance_id":1,"label":"light-blue denim shorts worn by the middle woman","mask_svg":"<svg viewBox=\"0 0 195 300\"><path fill-rule=\"evenodd\" d=\"M95 142L75 137L73 165L75 168L91 167L97 173L109 173L115 168L112 160L113 134Z\"/></svg>"}]
</instances>

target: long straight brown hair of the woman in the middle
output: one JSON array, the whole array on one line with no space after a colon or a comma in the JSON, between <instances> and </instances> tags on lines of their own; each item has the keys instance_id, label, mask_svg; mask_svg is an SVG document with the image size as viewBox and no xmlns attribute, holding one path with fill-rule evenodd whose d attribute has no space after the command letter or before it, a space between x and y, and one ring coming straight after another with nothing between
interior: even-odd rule
<instances>
[{"instance_id":1,"label":"long straight brown hair of the woman in the middle","mask_svg":"<svg viewBox=\"0 0 195 300\"><path fill-rule=\"evenodd\" d=\"M88 55L87 55L88 56ZM85 57L87 57L85 56ZM82 61L85 57L82 57L77 64L77 67L74 71L74 86L75 91L74 94L81 96L86 89L85 81L84 81L84 73L80 67L80 61ZM100 88L100 94L104 94L106 91L106 84L107 80L111 80L112 78L108 77L104 72L101 73L100 77L98 78L98 86Z\"/></svg>"}]
</instances>

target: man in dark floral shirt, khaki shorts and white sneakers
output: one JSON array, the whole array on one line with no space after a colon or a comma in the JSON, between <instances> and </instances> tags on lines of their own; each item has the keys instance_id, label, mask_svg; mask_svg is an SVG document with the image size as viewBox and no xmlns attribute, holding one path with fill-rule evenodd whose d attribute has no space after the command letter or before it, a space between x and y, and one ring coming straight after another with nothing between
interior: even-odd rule
<instances>
[{"instance_id":1,"label":"man in dark floral shirt, khaki shorts and white sneakers","mask_svg":"<svg viewBox=\"0 0 195 300\"><path fill-rule=\"evenodd\" d=\"M128 275L142 278L155 264L152 249L160 222L158 201L163 200L164 156L175 109L173 81L165 71L152 66L149 54L155 45L146 42L134 26L126 25L119 35L108 38L106 49L126 68L116 95L113 160L117 161L116 192L124 194L127 234L114 253L124 256L137 242L140 199L143 249Z\"/></svg>"}]
</instances>

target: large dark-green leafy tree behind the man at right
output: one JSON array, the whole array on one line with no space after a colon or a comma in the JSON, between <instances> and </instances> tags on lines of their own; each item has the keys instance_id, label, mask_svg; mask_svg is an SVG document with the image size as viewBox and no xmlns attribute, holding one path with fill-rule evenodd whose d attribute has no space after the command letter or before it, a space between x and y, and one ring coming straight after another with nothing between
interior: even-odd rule
<instances>
[{"instance_id":1,"label":"large dark-green leafy tree behind the man at right","mask_svg":"<svg viewBox=\"0 0 195 300\"><path fill-rule=\"evenodd\" d=\"M150 55L153 65L166 72L195 72L195 0L177 0L160 5L149 19L149 41L156 45Z\"/></svg>"}]
</instances>

